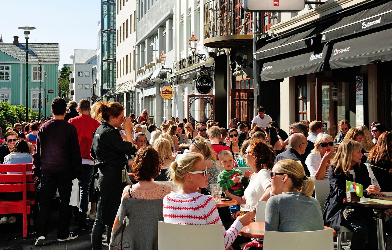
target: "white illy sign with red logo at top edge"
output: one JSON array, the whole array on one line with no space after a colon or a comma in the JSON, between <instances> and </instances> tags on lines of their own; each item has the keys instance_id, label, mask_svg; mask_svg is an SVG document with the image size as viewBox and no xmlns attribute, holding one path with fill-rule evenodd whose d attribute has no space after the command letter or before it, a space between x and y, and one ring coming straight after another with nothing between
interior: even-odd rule
<instances>
[{"instance_id":1,"label":"white illy sign with red logo at top edge","mask_svg":"<svg viewBox=\"0 0 392 250\"><path fill-rule=\"evenodd\" d=\"M305 0L244 0L247 12L290 12L305 9Z\"/></svg>"}]
</instances>

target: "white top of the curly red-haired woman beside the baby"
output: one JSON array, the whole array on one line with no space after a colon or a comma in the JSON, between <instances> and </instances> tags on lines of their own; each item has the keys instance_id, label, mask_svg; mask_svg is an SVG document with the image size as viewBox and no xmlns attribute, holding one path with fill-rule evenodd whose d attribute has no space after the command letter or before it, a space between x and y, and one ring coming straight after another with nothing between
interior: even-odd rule
<instances>
[{"instance_id":1,"label":"white top of the curly red-haired woman beside the baby","mask_svg":"<svg viewBox=\"0 0 392 250\"><path fill-rule=\"evenodd\" d=\"M263 196L265 189L271 185L271 182L269 181L271 178L270 173L271 171L267 169L261 169L259 173L251 176L249 185L244 192L246 203L249 204L250 207L254 207L254 205L257 204L261 196Z\"/></svg>"}]
</instances>

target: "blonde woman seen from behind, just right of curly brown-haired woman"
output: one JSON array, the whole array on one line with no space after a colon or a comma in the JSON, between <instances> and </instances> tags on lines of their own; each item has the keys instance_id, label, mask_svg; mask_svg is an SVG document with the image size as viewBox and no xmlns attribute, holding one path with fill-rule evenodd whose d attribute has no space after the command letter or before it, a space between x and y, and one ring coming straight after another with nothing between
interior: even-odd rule
<instances>
[{"instance_id":1,"label":"blonde woman seen from behind, just right of curly brown-haired woman","mask_svg":"<svg viewBox=\"0 0 392 250\"><path fill-rule=\"evenodd\" d=\"M156 149L156 151L158 151L158 155L161 163L161 173L156 178L154 178L154 180L159 182L166 182L167 169L170 167L170 164L172 164L173 162L172 152L171 152L172 143L166 138L161 137L154 140L154 144L152 144L152 147Z\"/></svg>"}]
</instances>

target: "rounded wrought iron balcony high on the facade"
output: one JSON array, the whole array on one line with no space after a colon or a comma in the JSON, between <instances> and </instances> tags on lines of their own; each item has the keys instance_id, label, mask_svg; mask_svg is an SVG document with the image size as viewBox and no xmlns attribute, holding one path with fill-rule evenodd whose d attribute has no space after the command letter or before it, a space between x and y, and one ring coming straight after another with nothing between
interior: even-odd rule
<instances>
[{"instance_id":1,"label":"rounded wrought iron balcony high on the facade","mask_svg":"<svg viewBox=\"0 0 392 250\"><path fill-rule=\"evenodd\" d=\"M253 39L252 14L240 0L211 0L204 4L204 46L233 48Z\"/></svg>"}]
</instances>

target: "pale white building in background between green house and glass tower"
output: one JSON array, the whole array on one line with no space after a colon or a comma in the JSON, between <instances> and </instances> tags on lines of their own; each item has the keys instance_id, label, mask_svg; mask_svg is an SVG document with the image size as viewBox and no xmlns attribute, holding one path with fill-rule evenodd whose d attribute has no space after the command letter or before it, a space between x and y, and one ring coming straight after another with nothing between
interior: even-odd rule
<instances>
[{"instance_id":1,"label":"pale white building in background between green house and glass tower","mask_svg":"<svg viewBox=\"0 0 392 250\"><path fill-rule=\"evenodd\" d=\"M71 57L72 58L72 57ZM97 66L97 50L74 50L73 65L73 100L91 99L92 71ZM71 80L72 82L72 80Z\"/></svg>"}]
</instances>

